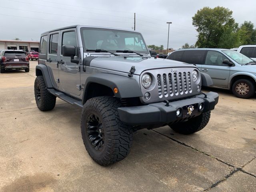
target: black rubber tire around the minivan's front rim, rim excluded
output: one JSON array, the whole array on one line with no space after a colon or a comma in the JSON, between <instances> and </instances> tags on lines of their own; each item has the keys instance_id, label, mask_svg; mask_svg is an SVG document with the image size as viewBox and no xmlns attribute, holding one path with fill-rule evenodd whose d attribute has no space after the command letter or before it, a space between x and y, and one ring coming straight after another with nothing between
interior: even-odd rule
<instances>
[{"instance_id":1,"label":"black rubber tire around the minivan's front rim, rim excluded","mask_svg":"<svg viewBox=\"0 0 256 192\"><path fill-rule=\"evenodd\" d=\"M249 92L246 95L240 95L238 92L236 92L236 86L240 83L247 84L249 86ZM255 85L252 83L252 81L248 79L239 79L232 85L232 92L233 94L238 98L248 99L254 96L255 94Z\"/></svg>"}]
</instances>

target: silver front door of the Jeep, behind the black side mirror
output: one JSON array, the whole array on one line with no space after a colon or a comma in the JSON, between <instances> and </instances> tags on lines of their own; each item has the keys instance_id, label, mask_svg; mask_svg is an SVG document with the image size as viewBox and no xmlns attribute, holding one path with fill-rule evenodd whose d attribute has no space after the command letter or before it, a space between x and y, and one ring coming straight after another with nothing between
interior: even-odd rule
<instances>
[{"instance_id":1,"label":"silver front door of the Jeep, behind the black side mirror","mask_svg":"<svg viewBox=\"0 0 256 192\"><path fill-rule=\"evenodd\" d=\"M58 58L59 63L59 77L61 87L69 93L80 95L80 65L71 63L71 57L64 57L62 55L63 45L73 45L78 47L78 41L76 36L76 28L61 30L61 43L60 43L60 57ZM58 54L59 55L59 54ZM77 54L74 59L78 58Z\"/></svg>"}]
</instances>

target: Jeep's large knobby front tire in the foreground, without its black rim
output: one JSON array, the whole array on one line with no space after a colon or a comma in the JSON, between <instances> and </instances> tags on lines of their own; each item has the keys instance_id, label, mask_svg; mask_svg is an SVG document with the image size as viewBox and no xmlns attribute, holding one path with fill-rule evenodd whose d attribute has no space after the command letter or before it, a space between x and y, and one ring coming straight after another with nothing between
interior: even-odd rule
<instances>
[{"instance_id":1,"label":"Jeep's large knobby front tire in the foreground, without its black rim","mask_svg":"<svg viewBox=\"0 0 256 192\"><path fill-rule=\"evenodd\" d=\"M117 108L121 107L117 98L101 96L89 99L82 110L81 133L84 146L91 158L102 166L113 164L126 158L132 147L133 130L120 121ZM104 144L96 150L87 135L86 120L96 114L101 120Z\"/></svg>"}]
</instances>

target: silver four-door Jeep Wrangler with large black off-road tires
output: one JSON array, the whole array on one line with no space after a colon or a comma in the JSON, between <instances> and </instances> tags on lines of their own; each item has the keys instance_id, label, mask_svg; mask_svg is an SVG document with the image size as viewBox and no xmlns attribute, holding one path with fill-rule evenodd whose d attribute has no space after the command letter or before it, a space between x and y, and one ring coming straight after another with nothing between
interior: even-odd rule
<instances>
[{"instance_id":1,"label":"silver four-door Jeep Wrangler with large black off-road tires","mask_svg":"<svg viewBox=\"0 0 256 192\"><path fill-rule=\"evenodd\" d=\"M170 126L204 128L218 94L203 94L210 76L192 64L150 57L139 32L69 26L41 35L35 99L52 110L56 97L81 107L86 150L100 165L124 159L133 132Z\"/></svg>"}]
</instances>

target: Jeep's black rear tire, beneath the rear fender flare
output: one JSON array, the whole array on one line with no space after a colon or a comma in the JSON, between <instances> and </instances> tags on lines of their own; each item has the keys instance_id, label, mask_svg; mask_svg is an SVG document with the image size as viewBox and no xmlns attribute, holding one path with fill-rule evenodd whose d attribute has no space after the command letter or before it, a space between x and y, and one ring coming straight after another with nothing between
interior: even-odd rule
<instances>
[{"instance_id":1,"label":"Jeep's black rear tire, beneath the rear fender flare","mask_svg":"<svg viewBox=\"0 0 256 192\"><path fill-rule=\"evenodd\" d=\"M47 91L43 76L36 77L34 93L38 109L41 111L49 111L54 108L56 103L56 96L50 94ZM40 98L38 98L38 94L40 94Z\"/></svg>"}]
</instances>

